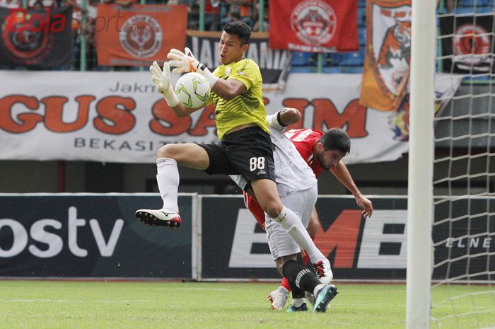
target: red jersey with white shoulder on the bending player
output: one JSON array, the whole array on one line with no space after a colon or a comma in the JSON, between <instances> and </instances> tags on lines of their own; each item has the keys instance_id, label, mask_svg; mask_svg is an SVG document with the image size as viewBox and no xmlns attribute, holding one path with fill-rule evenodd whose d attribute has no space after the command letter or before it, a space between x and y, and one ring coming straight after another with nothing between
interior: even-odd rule
<instances>
[{"instance_id":1,"label":"red jersey with white shoulder on the bending player","mask_svg":"<svg viewBox=\"0 0 495 329\"><path fill-rule=\"evenodd\" d=\"M299 154L303 157L303 160L308 163L313 173L318 178L323 172L323 168L320 162L314 158L314 148L318 139L325 134L316 129L291 129L285 132L287 138L296 146Z\"/></svg>"}]
</instances>

